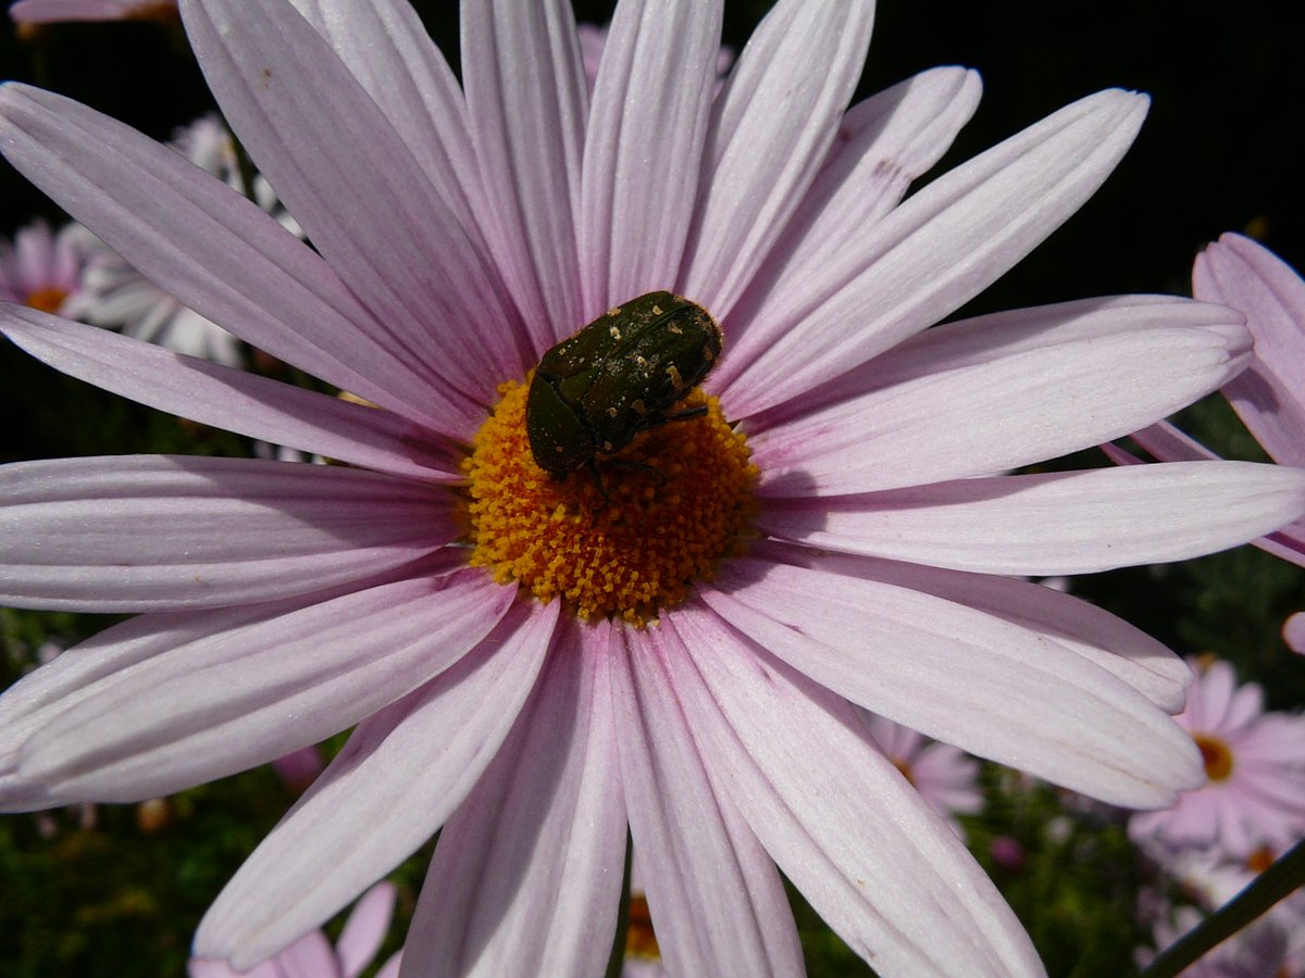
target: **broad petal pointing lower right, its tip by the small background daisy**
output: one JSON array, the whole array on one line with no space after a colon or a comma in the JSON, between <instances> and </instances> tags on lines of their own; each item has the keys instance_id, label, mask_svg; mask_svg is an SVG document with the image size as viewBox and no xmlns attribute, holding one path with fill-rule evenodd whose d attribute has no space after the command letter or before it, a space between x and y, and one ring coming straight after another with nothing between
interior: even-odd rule
<instances>
[{"instance_id":1,"label":"broad petal pointing lower right, its tip by the small background daisy","mask_svg":"<svg viewBox=\"0 0 1305 978\"><path fill-rule=\"evenodd\" d=\"M865 709L971 754L1129 807L1201 782L1191 738L1094 662L921 591L750 559L702 602Z\"/></svg>"}]
</instances>

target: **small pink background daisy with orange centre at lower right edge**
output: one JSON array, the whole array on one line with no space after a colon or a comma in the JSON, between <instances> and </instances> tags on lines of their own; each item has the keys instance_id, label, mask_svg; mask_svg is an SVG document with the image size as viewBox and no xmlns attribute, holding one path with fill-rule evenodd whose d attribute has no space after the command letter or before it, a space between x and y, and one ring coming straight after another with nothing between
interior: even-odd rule
<instances>
[{"instance_id":1,"label":"small pink background daisy with orange centre at lower right edge","mask_svg":"<svg viewBox=\"0 0 1305 978\"><path fill-rule=\"evenodd\" d=\"M1208 780L1171 808L1133 815L1135 842L1152 852L1218 846L1245 859L1305 836L1305 719L1266 713L1257 683L1237 686L1231 665L1212 662L1177 721L1201 748Z\"/></svg>"}]
</instances>

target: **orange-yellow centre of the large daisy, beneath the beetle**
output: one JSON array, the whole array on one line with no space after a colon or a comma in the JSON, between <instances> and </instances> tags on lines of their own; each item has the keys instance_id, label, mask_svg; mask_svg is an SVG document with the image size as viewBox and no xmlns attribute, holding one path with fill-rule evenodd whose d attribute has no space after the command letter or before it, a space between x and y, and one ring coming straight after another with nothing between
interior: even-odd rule
<instances>
[{"instance_id":1,"label":"orange-yellow centre of the large daisy, beneath the beetle","mask_svg":"<svg viewBox=\"0 0 1305 978\"><path fill-rule=\"evenodd\" d=\"M677 409L706 406L705 415L643 432L619 456L599 456L599 488L585 468L557 480L535 464L529 391L529 377L500 385L501 400L463 463L472 565L540 601L561 597L579 618L643 626L741 546L757 467L715 398L694 390Z\"/></svg>"}]
</instances>

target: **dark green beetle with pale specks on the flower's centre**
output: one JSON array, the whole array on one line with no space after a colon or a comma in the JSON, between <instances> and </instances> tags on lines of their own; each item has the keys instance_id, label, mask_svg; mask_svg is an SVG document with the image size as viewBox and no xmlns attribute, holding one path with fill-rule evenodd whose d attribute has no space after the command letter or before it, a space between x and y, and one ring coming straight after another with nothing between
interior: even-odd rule
<instances>
[{"instance_id":1,"label":"dark green beetle with pale specks on the flower's centre","mask_svg":"<svg viewBox=\"0 0 1305 978\"><path fill-rule=\"evenodd\" d=\"M596 456L649 428L705 413L671 408L719 356L720 327L688 299L649 292L609 309L539 361L526 400L535 462L557 479L589 466L596 479Z\"/></svg>"}]
</instances>

